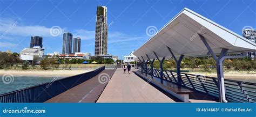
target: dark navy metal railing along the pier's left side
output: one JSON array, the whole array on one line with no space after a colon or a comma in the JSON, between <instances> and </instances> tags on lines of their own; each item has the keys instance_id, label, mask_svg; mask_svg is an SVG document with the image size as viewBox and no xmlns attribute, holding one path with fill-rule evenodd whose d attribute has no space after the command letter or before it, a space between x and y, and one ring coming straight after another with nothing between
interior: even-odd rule
<instances>
[{"instance_id":1,"label":"dark navy metal railing along the pier's left side","mask_svg":"<svg viewBox=\"0 0 256 117\"><path fill-rule=\"evenodd\" d=\"M94 71L75 76L58 79L21 90L0 94L1 103L43 103L58 94L77 86L80 83L96 76L105 69L105 66Z\"/></svg>"}]
</instances>

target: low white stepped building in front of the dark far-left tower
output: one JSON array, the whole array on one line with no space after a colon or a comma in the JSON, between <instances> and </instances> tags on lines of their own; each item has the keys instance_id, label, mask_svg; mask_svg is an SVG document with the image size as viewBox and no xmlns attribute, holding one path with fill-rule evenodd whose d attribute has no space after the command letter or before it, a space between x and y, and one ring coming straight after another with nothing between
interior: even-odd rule
<instances>
[{"instance_id":1,"label":"low white stepped building in front of the dark far-left tower","mask_svg":"<svg viewBox=\"0 0 256 117\"><path fill-rule=\"evenodd\" d=\"M19 53L21 55L21 59L23 61L41 61L43 59L43 55L44 55L44 48L41 48L40 46L35 46L32 48L25 48L22 50L21 53Z\"/></svg>"}]
</instances>

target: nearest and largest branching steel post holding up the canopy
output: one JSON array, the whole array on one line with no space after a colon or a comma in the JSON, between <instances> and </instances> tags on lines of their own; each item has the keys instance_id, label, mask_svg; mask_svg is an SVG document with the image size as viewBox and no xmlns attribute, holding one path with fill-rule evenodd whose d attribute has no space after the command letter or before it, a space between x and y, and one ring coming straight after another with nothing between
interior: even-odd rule
<instances>
[{"instance_id":1,"label":"nearest and largest branching steel post holding up the canopy","mask_svg":"<svg viewBox=\"0 0 256 117\"><path fill-rule=\"evenodd\" d=\"M219 89L219 101L220 103L227 103L226 94L225 94L225 83L224 83L224 69L223 69L223 62L225 58L242 58L245 57L245 53L242 53L240 56L226 56L228 49L223 48L220 52L219 57L217 57L211 47L208 45L207 41L205 40L203 35L198 34L201 40L204 42L206 48L211 53L212 57L216 61L217 67L217 76L218 76L218 89Z\"/></svg>"}]
</instances>

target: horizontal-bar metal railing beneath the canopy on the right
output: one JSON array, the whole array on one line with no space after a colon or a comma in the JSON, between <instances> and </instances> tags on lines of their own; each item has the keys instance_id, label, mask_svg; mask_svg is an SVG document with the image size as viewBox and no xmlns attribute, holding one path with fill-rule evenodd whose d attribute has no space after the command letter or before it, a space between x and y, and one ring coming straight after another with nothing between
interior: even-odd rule
<instances>
[{"instance_id":1,"label":"horizontal-bar metal railing beneath the canopy on the right","mask_svg":"<svg viewBox=\"0 0 256 117\"><path fill-rule=\"evenodd\" d=\"M139 69L141 70L141 68ZM145 73L145 68L143 69ZM151 69L147 68L147 73L150 76ZM167 82L177 83L177 73L169 70L163 71L163 80ZM160 70L153 69L153 76L160 78ZM193 75L181 72L181 85L191 89L210 94L211 96L219 97L218 78ZM226 99L232 103L255 103L256 102L256 83L235 81L225 79Z\"/></svg>"}]
</instances>

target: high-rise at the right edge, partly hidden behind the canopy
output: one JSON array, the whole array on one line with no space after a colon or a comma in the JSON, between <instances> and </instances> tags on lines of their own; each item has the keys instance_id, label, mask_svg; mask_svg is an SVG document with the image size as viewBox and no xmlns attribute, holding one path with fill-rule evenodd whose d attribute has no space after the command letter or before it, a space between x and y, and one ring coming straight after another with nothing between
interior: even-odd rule
<instances>
[{"instance_id":1,"label":"high-rise at the right edge, partly hidden behind the canopy","mask_svg":"<svg viewBox=\"0 0 256 117\"><path fill-rule=\"evenodd\" d=\"M245 29L242 30L242 35L244 38L256 43L256 30L255 29ZM255 52L248 52L246 53L247 56L250 56L252 60L255 59Z\"/></svg>"}]
</instances>

